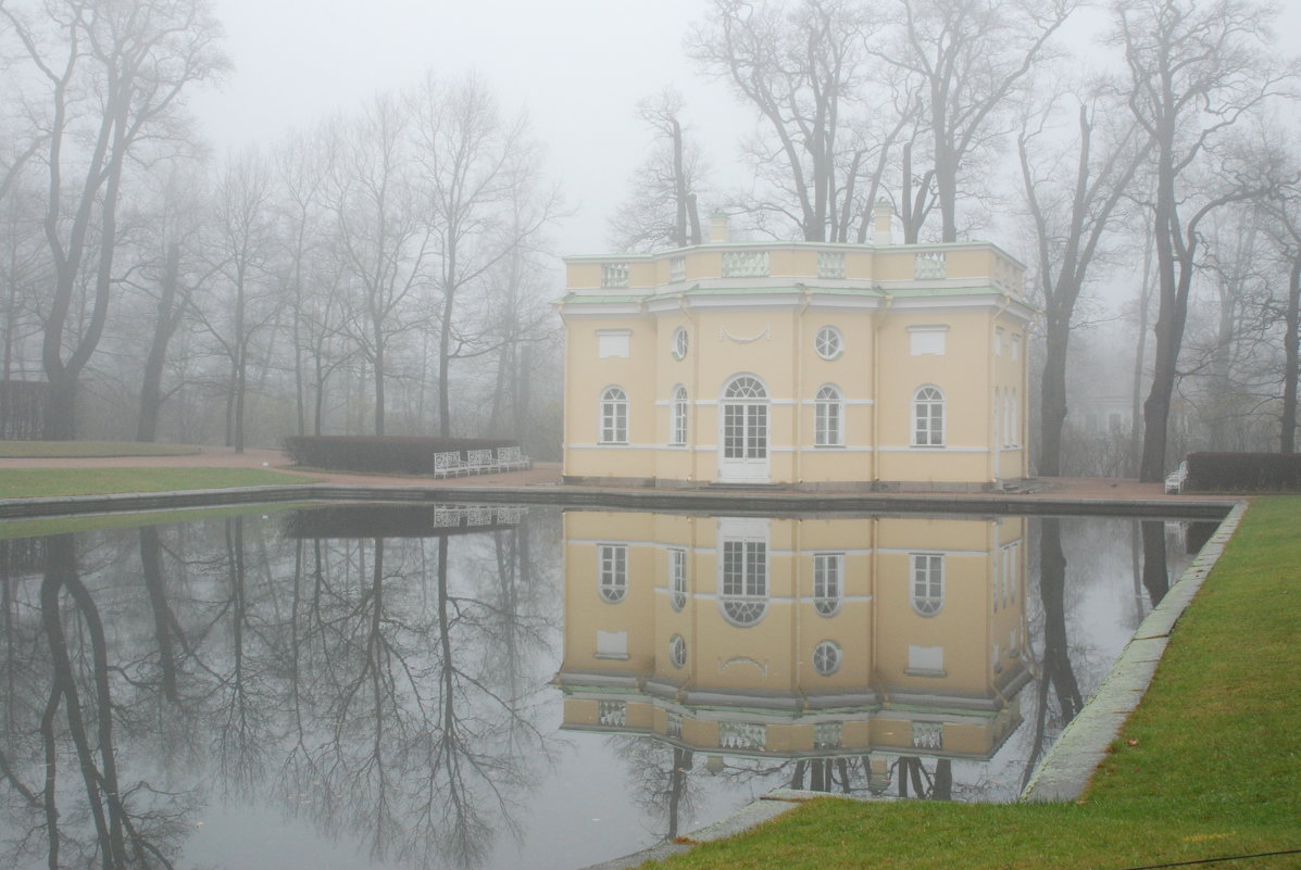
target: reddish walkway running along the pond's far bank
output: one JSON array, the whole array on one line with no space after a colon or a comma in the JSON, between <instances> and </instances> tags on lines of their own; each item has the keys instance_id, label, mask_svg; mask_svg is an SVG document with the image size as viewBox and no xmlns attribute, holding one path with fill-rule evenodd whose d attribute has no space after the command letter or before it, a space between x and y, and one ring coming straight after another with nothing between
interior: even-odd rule
<instances>
[{"instance_id":1,"label":"reddish walkway running along the pond's far bank","mask_svg":"<svg viewBox=\"0 0 1301 870\"><path fill-rule=\"evenodd\" d=\"M0 459L4 468L268 468L290 475L302 475L327 484L364 486L492 486L492 488L563 488L561 464L533 463L530 471L502 475L474 475L435 480L420 476L364 475L356 472L299 471L280 450L245 450L237 454L230 447L203 447L196 454L183 456L94 456L85 459ZM1155 499L1171 502L1224 501L1226 495L1167 495L1163 484L1141 484L1129 479L1106 477L1053 477L1041 480L1042 489L1015 498L1077 498L1088 501ZM961 498L961 493L948 493Z\"/></svg>"}]
</instances>

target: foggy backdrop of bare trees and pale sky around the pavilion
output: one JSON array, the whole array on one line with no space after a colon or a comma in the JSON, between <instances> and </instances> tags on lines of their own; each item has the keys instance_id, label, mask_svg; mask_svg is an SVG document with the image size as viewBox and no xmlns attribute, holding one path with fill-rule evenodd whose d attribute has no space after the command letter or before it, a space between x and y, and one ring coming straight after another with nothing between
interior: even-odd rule
<instances>
[{"instance_id":1,"label":"foggy backdrop of bare trees and pale sky around the pavilion","mask_svg":"<svg viewBox=\"0 0 1301 870\"><path fill-rule=\"evenodd\" d=\"M904 242L1019 257L1042 473L1294 450L1301 4L0 12L5 437L556 458L558 257L682 244L687 195L833 243L883 198Z\"/></svg>"}]
</instances>

